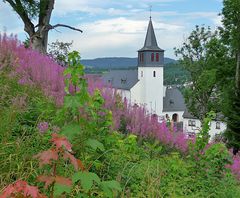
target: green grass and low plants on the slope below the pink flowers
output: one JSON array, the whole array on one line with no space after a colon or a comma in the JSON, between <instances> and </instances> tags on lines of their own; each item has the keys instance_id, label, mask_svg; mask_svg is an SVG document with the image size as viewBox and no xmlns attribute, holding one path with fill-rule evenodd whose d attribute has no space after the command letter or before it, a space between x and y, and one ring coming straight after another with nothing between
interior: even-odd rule
<instances>
[{"instance_id":1,"label":"green grass and low plants on the slope below the pink flowers","mask_svg":"<svg viewBox=\"0 0 240 198\"><path fill-rule=\"evenodd\" d=\"M33 156L50 146L47 134L40 134L37 125L47 121L53 126L57 111L38 88L19 85L7 74L0 73L0 190L18 179L37 184L35 178L41 170ZM207 175L204 169L196 168L191 156L182 156L152 140L139 142L134 135L110 131L98 136L105 150L85 148L83 162L101 179L119 181L123 189L120 197L240 195L238 182L229 171L220 177ZM75 155L82 159L82 147L75 144L80 137L72 143ZM67 166L60 170L66 176L71 172L66 172Z\"/></svg>"}]
</instances>

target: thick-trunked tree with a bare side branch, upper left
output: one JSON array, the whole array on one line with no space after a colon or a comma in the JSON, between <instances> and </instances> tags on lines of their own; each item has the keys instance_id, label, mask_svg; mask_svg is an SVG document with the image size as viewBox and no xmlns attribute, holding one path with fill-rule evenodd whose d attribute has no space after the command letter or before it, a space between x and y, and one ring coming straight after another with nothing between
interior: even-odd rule
<instances>
[{"instance_id":1,"label":"thick-trunked tree with a bare side branch, upper left","mask_svg":"<svg viewBox=\"0 0 240 198\"><path fill-rule=\"evenodd\" d=\"M8 2L24 23L24 31L30 38L32 48L41 53L47 52L48 32L57 27L66 27L82 32L82 30L65 25L51 25L50 19L54 9L54 0L3 0ZM37 24L33 21L37 19Z\"/></svg>"}]
</instances>

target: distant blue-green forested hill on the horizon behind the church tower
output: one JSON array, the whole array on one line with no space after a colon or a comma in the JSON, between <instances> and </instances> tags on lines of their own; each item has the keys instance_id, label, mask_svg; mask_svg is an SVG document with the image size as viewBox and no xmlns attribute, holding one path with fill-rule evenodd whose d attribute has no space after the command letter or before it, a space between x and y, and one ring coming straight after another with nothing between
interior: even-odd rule
<instances>
[{"instance_id":1,"label":"distant blue-green forested hill on the horizon behind the church tower","mask_svg":"<svg viewBox=\"0 0 240 198\"><path fill-rule=\"evenodd\" d=\"M171 58L164 58L165 64L176 63L177 61ZM106 57L96 59L83 59L81 63L87 68L95 69L118 69L129 68L137 66L137 58L127 57Z\"/></svg>"}]
</instances>

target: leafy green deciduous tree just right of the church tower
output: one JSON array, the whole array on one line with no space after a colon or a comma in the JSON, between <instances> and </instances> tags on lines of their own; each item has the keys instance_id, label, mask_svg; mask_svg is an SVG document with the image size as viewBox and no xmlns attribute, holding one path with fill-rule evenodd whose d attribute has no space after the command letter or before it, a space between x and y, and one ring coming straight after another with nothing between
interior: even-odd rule
<instances>
[{"instance_id":1,"label":"leafy green deciduous tree just right of the church tower","mask_svg":"<svg viewBox=\"0 0 240 198\"><path fill-rule=\"evenodd\" d=\"M211 110L219 111L218 76L227 68L228 49L218 38L218 32L196 26L180 49L180 64L190 74L192 85L185 89L188 110L201 121Z\"/></svg>"}]
</instances>

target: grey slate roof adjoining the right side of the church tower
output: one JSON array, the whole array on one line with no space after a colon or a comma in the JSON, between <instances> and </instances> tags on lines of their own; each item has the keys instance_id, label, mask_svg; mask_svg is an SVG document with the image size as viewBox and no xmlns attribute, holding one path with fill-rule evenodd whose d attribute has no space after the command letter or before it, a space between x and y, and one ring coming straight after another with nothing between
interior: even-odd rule
<instances>
[{"instance_id":1,"label":"grey slate roof adjoining the right side of the church tower","mask_svg":"<svg viewBox=\"0 0 240 198\"><path fill-rule=\"evenodd\" d=\"M177 88L166 88L166 95L163 98L163 112L184 111L186 105L182 93Z\"/></svg>"}]
</instances>

